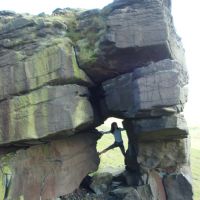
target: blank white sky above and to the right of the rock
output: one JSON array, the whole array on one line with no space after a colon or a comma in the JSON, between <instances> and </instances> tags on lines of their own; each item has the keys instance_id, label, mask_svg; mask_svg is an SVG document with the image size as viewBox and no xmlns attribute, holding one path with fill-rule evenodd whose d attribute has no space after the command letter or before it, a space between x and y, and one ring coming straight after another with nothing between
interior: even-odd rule
<instances>
[{"instance_id":1,"label":"blank white sky above and to the right of the rock","mask_svg":"<svg viewBox=\"0 0 200 200\"><path fill-rule=\"evenodd\" d=\"M56 8L102 8L112 0L0 0L0 10L19 13L51 13ZM190 75L189 100L185 116L190 126L200 125L200 0L172 0L173 17L178 35L186 50Z\"/></svg>"}]
</instances>

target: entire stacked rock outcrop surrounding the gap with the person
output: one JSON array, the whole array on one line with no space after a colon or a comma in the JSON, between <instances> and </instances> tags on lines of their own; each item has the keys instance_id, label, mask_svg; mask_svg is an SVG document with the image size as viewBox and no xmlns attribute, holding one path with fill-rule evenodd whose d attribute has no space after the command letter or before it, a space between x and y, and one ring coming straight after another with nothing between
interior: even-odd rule
<instances>
[{"instance_id":1,"label":"entire stacked rock outcrop surrounding the gap with the person","mask_svg":"<svg viewBox=\"0 0 200 200\"><path fill-rule=\"evenodd\" d=\"M0 199L73 192L97 170L95 127L111 116L124 120L126 169L146 198L192 199L187 84L170 0L0 11Z\"/></svg>"}]
</instances>

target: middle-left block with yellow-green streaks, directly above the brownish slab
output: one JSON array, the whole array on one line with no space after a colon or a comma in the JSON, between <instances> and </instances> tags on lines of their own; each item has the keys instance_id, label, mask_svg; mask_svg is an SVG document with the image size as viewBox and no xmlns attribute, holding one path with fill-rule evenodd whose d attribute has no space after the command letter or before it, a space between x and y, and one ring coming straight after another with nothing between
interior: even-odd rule
<instances>
[{"instance_id":1,"label":"middle-left block with yellow-green streaks, directly above the brownish slab","mask_svg":"<svg viewBox=\"0 0 200 200\"><path fill-rule=\"evenodd\" d=\"M72 135L88 128L94 114L88 90L77 85L46 86L0 103L0 144Z\"/></svg>"}]
</instances>

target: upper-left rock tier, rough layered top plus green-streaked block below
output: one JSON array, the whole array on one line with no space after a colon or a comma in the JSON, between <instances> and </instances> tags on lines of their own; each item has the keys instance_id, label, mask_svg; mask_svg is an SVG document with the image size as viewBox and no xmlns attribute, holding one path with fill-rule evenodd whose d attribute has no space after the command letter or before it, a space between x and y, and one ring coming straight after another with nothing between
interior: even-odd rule
<instances>
[{"instance_id":1,"label":"upper-left rock tier, rough layered top plus green-streaked block below","mask_svg":"<svg viewBox=\"0 0 200 200\"><path fill-rule=\"evenodd\" d=\"M66 23L56 17L0 20L0 100L47 84L92 86L64 35Z\"/></svg>"}]
</instances>

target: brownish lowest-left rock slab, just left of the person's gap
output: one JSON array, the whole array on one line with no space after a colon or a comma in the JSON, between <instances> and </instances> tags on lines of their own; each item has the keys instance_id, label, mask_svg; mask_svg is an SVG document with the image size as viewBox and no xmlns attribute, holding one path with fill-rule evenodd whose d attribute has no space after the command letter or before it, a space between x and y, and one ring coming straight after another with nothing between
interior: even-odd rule
<instances>
[{"instance_id":1,"label":"brownish lowest-left rock slab, just left of the person's gap","mask_svg":"<svg viewBox=\"0 0 200 200\"><path fill-rule=\"evenodd\" d=\"M4 163L12 174L8 199L54 200L78 188L99 159L92 134L78 134L17 151Z\"/></svg>"}]
</instances>

